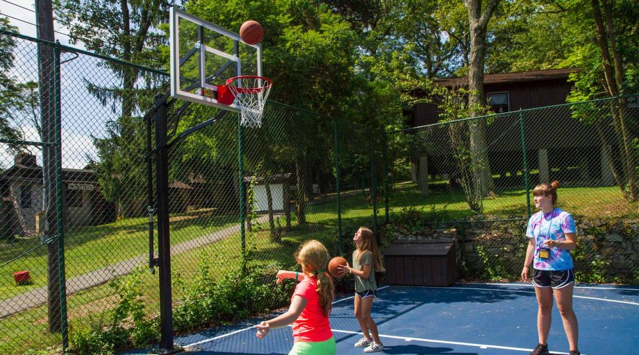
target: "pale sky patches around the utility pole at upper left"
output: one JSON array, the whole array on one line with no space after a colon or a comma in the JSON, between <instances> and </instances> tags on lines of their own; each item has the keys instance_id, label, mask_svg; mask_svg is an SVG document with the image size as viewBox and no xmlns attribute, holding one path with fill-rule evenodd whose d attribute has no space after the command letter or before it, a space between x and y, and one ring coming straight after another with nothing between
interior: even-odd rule
<instances>
[{"instance_id":1,"label":"pale sky patches around the utility pole at upper left","mask_svg":"<svg viewBox=\"0 0 639 355\"><path fill-rule=\"evenodd\" d=\"M22 6L20 8L19 6ZM22 19L11 19L10 23L17 26L19 33L35 37L35 13L26 9L34 8L34 0L0 0L0 12L3 15ZM31 24L26 24L24 21ZM60 33L68 33L69 29L57 21L53 26ZM61 44L85 49L82 43L69 44L69 37L55 33L56 40ZM37 54L33 42L17 40L14 50L14 67L11 71L19 83L38 80ZM63 138L63 168L84 168L89 162L88 157L97 159L97 153L92 143L92 137L104 137L104 123L117 118L117 107L104 107L87 92L86 81L98 85L117 85L121 83L113 72L100 66L101 60L81 55L73 59L71 53L63 53L61 65L62 92L62 138ZM69 62L64 62L70 60ZM86 80L86 81L85 81ZM117 106L117 105L116 105ZM14 127L19 128L24 139L40 141L38 132L33 124L29 124L30 116L17 113ZM42 166L42 154L38 148L31 147L31 153L38 157L38 164ZM12 155L6 150L6 145L0 144L0 166L8 168L13 164Z\"/></svg>"}]
</instances>

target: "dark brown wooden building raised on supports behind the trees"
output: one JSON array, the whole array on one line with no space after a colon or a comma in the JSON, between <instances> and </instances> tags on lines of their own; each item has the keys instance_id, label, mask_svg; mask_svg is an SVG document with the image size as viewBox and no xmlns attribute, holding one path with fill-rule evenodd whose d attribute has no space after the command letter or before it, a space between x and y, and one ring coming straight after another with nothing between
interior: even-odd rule
<instances>
[{"instance_id":1,"label":"dark brown wooden building raised on supports behind the trees","mask_svg":"<svg viewBox=\"0 0 639 355\"><path fill-rule=\"evenodd\" d=\"M487 74L484 78L486 102L496 113L486 131L488 159L493 174L500 177L496 186L523 186L522 137L519 120L524 128L524 143L531 183L558 179L568 184L609 186L614 184L611 157L602 149L601 141L592 125L586 125L571 116L570 107L548 107L566 103L572 83L568 76L576 69L551 69L518 73ZM446 87L464 87L467 78L442 78L435 83ZM540 110L527 110L547 107ZM411 125L432 125L440 112L433 103L415 105ZM609 127L609 126L608 126ZM444 128L420 130L430 132L425 150L411 157L413 181L420 182L422 191L435 175L445 178L455 175L457 164ZM608 132L613 134L613 132ZM425 133L424 133L425 134ZM614 147L613 150L614 151ZM420 178L422 177L422 178Z\"/></svg>"}]
</instances>

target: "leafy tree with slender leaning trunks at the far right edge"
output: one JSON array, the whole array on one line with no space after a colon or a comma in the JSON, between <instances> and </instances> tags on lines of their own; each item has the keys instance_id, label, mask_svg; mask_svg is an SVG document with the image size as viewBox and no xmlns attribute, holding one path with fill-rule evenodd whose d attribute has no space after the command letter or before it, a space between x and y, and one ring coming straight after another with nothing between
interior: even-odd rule
<instances>
[{"instance_id":1,"label":"leafy tree with slender leaning trunks at the far right edge","mask_svg":"<svg viewBox=\"0 0 639 355\"><path fill-rule=\"evenodd\" d=\"M639 30L636 18L639 8L634 1L590 0L575 1L570 14L572 37L567 44L579 43L566 60L567 64L581 68L571 79L575 85L568 98L571 102L599 97L615 97L634 93L639 89ZM570 42L569 42L570 41ZM633 127L638 122L626 113L626 98L608 101L608 110L615 132L614 137L604 135L606 114L588 116L594 124L604 149L618 151L620 164L611 162L617 185L629 200L639 198L639 177L636 151L637 137ZM580 112L573 115L583 119ZM608 151L613 156L611 151Z\"/></svg>"}]
</instances>

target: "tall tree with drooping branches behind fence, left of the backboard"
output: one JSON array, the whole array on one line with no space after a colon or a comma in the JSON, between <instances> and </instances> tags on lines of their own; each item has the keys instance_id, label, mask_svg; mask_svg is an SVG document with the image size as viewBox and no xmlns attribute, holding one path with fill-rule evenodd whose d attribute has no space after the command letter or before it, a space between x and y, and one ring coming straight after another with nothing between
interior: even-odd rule
<instances>
[{"instance_id":1,"label":"tall tree with drooping branches behind fence, left of the backboard","mask_svg":"<svg viewBox=\"0 0 639 355\"><path fill-rule=\"evenodd\" d=\"M61 0L56 13L69 26L71 42L83 42L87 49L135 64L157 68L164 58L157 50L165 41L158 28L168 21L169 0ZM99 162L96 163L101 191L115 203L117 215L136 216L142 207L146 180L140 157L144 149L144 126L136 110L144 112L153 104L153 75L138 68L106 61L122 79L118 85L105 85L85 78L88 91L103 105L119 103L115 121L107 123L108 137L94 138ZM138 85L144 77L145 87Z\"/></svg>"}]
</instances>

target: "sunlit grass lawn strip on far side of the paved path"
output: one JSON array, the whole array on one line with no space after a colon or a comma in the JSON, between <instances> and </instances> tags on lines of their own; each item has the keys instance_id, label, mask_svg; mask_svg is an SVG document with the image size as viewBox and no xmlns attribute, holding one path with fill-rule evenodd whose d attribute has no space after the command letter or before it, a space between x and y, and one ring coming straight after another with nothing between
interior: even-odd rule
<instances>
[{"instance_id":1,"label":"sunlit grass lawn strip on far side of the paved path","mask_svg":"<svg viewBox=\"0 0 639 355\"><path fill-rule=\"evenodd\" d=\"M214 216L212 211L195 211L171 217L172 245L196 239L238 223L237 216ZM157 231L154 232L157 235ZM7 299L47 286L47 246L40 239L4 242L0 260L24 256L0 268L0 297ZM39 248L38 245L40 245ZM149 250L148 218L124 218L106 225L80 227L65 235L65 272L71 279L105 268L119 261L143 255ZM29 270L32 283L17 286L13 272Z\"/></svg>"}]
</instances>

